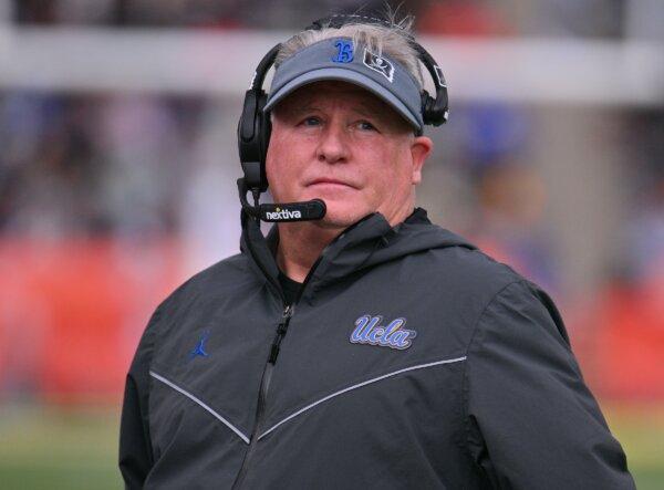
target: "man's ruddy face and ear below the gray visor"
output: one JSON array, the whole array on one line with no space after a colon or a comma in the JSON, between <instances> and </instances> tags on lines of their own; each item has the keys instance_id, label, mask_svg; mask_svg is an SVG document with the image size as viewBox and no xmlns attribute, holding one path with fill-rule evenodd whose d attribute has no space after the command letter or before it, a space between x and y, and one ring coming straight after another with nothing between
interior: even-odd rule
<instances>
[{"instance_id":1,"label":"man's ruddy face and ear below the gray visor","mask_svg":"<svg viewBox=\"0 0 664 490\"><path fill-rule=\"evenodd\" d=\"M268 181L276 202L324 200L323 227L345 228L374 211L395 225L414 207L432 146L370 92L318 82L272 112Z\"/></svg>"}]
</instances>

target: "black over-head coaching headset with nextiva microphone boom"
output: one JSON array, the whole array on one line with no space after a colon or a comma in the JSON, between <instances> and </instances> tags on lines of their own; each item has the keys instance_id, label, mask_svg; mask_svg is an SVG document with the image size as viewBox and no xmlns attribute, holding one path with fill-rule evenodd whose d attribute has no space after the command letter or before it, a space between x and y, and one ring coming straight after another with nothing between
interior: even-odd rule
<instances>
[{"instance_id":1,"label":"black over-head coaching headset with nextiva microphone boom","mask_svg":"<svg viewBox=\"0 0 664 490\"><path fill-rule=\"evenodd\" d=\"M387 22L382 19L375 19L371 17L357 15L357 14L338 14L319 19L314 21L307 30L321 30L323 28L339 29L349 23L364 23L364 24L377 24L388 28L395 28L396 24ZM422 116L424 124L439 126L447 122L449 108L447 98L447 83L443 75L443 71L436 64L434 58L415 41L413 35L408 33L408 41L411 45L417 52L419 61L427 69L434 86L436 87L436 96L432 97L426 90L422 90ZM268 189L268 178L266 174L266 157L268 154L268 145L270 143L270 134L272 125L270 122L270 114L263 112L266 106L268 94L263 90L263 81L266 74L270 67L274 64L277 54L281 44L273 46L260 61L256 67L253 79L249 90L245 94L245 103L242 104L242 114L238 123L238 149L240 154L240 163L242 165L242 171L245 176L238 180L238 190L240 192L240 200L242 208L247 210L251 216L263 221L300 221L304 219L320 219L317 218L320 215L321 207L313 201L308 202L308 212L301 213L302 218L290 218L290 219L270 219L270 216L277 216L273 212L268 215L262 209L264 206L278 206L278 205L260 205L258 201L260 194ZM253 196L255 206L251 207L247 201L247 192L251 191ZM322 213L324 215L324 202L320 200L322 205ZM293 208L298 204L283 204L279 205L280 208ZM307 218L304 218L307 216ZM321 216L322 217L322 216Z\"/></svg>"}]
</instances>

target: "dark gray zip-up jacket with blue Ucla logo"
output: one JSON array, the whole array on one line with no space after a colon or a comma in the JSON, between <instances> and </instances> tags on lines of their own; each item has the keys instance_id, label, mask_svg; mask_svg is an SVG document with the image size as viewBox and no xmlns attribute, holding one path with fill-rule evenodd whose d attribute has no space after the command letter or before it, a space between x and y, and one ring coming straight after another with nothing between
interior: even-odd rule
<instances>
[{"instance_id":1,"label":"dark gray zip-up jacket with blue Ucla logo","mask_svg":"<svg viewBox=\"0 0 664 490\"><path fill-rule=\"evenodd\" d=\"M537 285L416 210L371 215L283 304L270 247L154 313L127 376L129 488L632 489Z\"/></svg>"}]
</instances>

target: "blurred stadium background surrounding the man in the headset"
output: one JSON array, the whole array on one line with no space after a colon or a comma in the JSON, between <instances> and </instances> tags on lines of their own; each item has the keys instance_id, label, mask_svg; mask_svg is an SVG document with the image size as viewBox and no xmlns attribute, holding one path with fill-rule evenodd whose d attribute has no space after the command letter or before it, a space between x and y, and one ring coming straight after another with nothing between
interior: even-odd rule
<instances>
[{"instance_id":1,"label":"blurred stadium background surrounding the man in the headset","mask_svg":"<svg viewBox=\"0 0 664 490\"><path fill-rule=\"evenodd\" d=\"M260 58L372 0L0 0L0 487L121 488L155 306L236 253ZM664 488L664 2L419 0L450 122L419 205L542 285L641 489Z\"/></svg>"}]
</instances>

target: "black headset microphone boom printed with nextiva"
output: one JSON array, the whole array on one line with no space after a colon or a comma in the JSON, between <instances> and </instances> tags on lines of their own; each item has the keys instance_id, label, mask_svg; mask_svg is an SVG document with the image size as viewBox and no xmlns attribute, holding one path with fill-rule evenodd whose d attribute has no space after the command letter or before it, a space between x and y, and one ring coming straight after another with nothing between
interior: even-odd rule
<instances>
[{"instance_id":1,"label":"black headset microphone boom printed with nextiva","mask_svg":"<svg viewBox=\"0 0 664 490\"><path fill-rule=\"evenodd\" d=\"M312 221L325 216L325 202L312 199L302 202L264 204L258 205L258 192L249 189L243 178L238 179L238 190L242 209L253 219L268 222ZM251 206L247 200L247 192L251 190L256 204Z\"/></svg>"}]
</instances>

